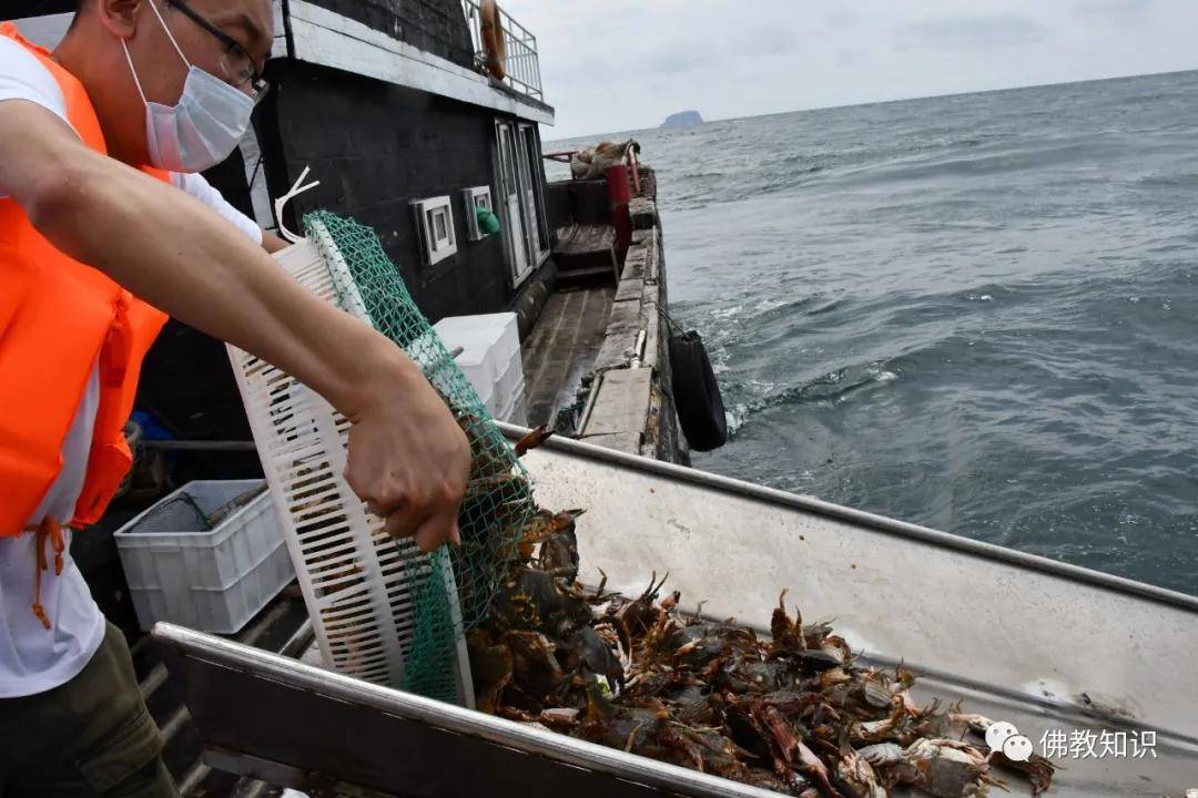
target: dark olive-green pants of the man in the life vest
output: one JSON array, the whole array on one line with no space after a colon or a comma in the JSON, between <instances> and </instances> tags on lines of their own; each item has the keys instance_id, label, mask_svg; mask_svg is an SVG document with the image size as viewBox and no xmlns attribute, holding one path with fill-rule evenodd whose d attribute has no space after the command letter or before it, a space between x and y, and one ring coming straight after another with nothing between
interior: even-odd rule
<instances>
[{"instance_id":1,"label":"dark olive-green pants of the man in the life vest","mask_svg":"<svg viewBox=\"0 0 1198 798\"><path fill-rule=\"evenodd\" d=\"M177 798L129 647L111 623L78 676L0 699L0 798Z\"/></svg>"}]
</instances>

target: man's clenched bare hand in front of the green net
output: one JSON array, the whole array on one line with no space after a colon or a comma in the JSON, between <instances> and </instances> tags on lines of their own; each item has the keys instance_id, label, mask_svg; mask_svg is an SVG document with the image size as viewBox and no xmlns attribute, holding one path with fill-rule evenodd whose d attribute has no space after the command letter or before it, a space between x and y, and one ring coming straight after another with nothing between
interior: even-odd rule
<instances>
[{"instance_id":1,"label":"man's clenched bare hand in front of the green net","mask_svg":"<svg viewBox=\"0 0 1198 798\"><path fill-rule=\"evenodd\" d=\"M363 386L365 404L350 416L345 479L393 537L415 537L424 552L460 543L458 508L470 476L470 443L453 414L411 361ZM403 398L397 398L403 397Z\"/></svg>"}]
</instances>

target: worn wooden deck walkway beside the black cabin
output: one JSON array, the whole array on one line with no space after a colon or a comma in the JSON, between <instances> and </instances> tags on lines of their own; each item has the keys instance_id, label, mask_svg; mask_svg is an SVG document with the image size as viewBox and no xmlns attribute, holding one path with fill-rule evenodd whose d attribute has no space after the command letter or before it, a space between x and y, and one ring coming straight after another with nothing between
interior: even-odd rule
<instances>
[{"instance_id":1,"label":"worn wooden deck walkway beside the black cabin","mask_svg":"<svg viewBox=\"0 0 1198 798\"><path fill-rule=\"evenodd\" d=\"M558 288L545 303L524 342L528 425L552 425L562 407L575 401L582 378L594 365L611 317L616 286Z\"/></svg>"}]
</instances>

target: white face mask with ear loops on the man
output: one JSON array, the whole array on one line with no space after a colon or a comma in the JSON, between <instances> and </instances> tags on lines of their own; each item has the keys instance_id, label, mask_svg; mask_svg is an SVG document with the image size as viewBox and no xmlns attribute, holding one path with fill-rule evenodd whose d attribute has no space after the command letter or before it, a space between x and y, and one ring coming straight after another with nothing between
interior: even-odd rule
<instances>
[{"instance_id":1,"label":"white face mask with ear loops on the man","mask_svg":"<svg viewBox=\"0 0 1198 798\"><path fill-rule=\"evenodd\" d=\"M187 65L183 96L174 106L151 103L141 90L141 80L133 67L129 48L122 41L125 59L133 72L141 102L146 106L146 145L150 163L173 172L202 172L228 158L249 129L254 100L216 75L192 66L170 35L167 22L153 2L149 4L175 45L179 57Z\"/></svg>"}]
</instances>

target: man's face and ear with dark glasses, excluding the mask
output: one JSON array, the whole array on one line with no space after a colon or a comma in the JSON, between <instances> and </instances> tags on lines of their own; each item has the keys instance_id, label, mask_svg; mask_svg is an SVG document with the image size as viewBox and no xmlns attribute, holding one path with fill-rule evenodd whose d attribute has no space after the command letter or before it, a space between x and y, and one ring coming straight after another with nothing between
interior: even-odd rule
<instances>
[{"instance_id":1,"label":"man's face and ear with dark glasses, excluding the mask","mask_svg":"<svg viewBox=\"0 0 1198 798\"><path fill-rule=\"evenodd\" d=\"M153 7L150 4L153 4ZM137 30L127 44L133 66L146 99L174 105L183 93L187 63L225 80L249 96L254 95L249 75L259 75L266 65L274 39L274 16L271 0L182 0L194 17L179 4L168 0L145 0L137 18ZM155 8L162 14L158 22ZM214 30L205 28L208 23ZM167 35L170 31L170 36ZM218 32L219 35L218 35ZM117 42L113 43L119 47ZM123 60L123 55L121 56ZM128 75L129 91L137 95L133 75ZM140 104L140 97L138 97ZM140 129L144 116L132 120Z\"/></svg>"}]
</instances>

